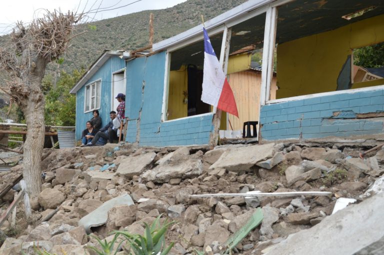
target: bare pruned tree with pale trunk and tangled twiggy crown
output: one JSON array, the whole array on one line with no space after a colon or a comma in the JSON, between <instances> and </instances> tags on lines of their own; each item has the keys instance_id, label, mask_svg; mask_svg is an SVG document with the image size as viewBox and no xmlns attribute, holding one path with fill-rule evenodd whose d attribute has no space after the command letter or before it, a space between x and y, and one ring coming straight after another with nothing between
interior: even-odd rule
<instances>
[{"instance_id":1,"label":"bare pruned tree with pale trunk and tangled twiggy crown","mask_svg":"<svg viewBox=\"0 0 384 255\"><path fill-rule=\"evenodd\" d=\"M41 79L45 67L62 55L81 14L47 11L28 25L17 22L10 42L0 47L0 69L9 79L0 89L18 104L24 113L27 133L23 146L23 177L26 190L37 196L41 189L41 155L44 143L44 96Z\"/></svg>"}]
</instances>

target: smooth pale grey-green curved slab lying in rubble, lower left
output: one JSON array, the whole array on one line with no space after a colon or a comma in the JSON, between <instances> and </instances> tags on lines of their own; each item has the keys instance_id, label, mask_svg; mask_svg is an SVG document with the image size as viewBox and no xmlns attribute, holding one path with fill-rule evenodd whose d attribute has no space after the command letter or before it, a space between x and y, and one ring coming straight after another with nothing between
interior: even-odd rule
<instances>
[{"instance_id":1,"label":"smooth pale grey-green curved slab lying in rubble, lower left","mask_svg":"<svg viewBox=\"0 0 384 255\"><path fill-rule=\"evenodd\" d=\"M99 226L105 224L106 219L108 217L108 210L113 206L127 204L134 204L132 198L128 194L120 195L114 197L103 204L101 204L98 208L90 212L89 214L83 216L79 221L78 225L84 227L86 233L90 233L90 227Z\"/></svg>"}]
</instances>

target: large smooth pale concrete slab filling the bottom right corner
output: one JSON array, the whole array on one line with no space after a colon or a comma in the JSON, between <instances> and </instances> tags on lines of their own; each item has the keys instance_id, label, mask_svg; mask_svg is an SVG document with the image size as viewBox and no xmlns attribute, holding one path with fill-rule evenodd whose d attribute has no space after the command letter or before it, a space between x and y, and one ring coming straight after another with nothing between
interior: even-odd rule
<instances>
[{"instance_id":1,"label":"large smooth pale concrete slab filling the bottom right corner","mask_svg":"<svg viewBox=\"0 0 384 255\"><path fill-rule=\"evenodd\" d=\"M383 199L381 193L351 204L315 226L289 235L267 254L355 254L384 235Z\"/></svg>"}]
</instances>

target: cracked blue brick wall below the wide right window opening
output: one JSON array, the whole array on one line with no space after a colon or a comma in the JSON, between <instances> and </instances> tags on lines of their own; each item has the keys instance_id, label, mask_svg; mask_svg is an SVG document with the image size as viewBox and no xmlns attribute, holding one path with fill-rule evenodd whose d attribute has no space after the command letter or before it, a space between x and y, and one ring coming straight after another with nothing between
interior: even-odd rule
<instances>
[{"instance_id":1,"label":"cracked blue brick wall below the wide right window opening","mask_svg":"<svg viewBox=\"0 0 384 255\"><path fill-rule=\"evenodd\" d=\"M262 139L320 138L382 133L383 118L358 118L383 112L384 90L356 91L261 106Z\"/></svg>"}]
</instances>

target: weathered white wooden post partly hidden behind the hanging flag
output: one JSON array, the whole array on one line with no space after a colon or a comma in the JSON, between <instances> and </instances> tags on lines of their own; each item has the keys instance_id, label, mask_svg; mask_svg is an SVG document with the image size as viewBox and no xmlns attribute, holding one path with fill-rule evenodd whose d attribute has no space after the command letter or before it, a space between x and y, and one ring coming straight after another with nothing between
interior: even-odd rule
<instances>
[{"instance_id":1,"label":"weathered white wooden post partly hidden behind the hanging flag","mask_svg":"<svg viewBox=\"0 0 384 255\"><path fill-rule=\"evenodd\" d=\"M220 60L219 60L219 63L221 64L222 70L224 71L225 75L226 75L226 70L228 66L230 36L231 36L231 28L225 26L223 35L222 35ZM214 146L217 144L218 130L220 128L220 120L221 120L221 110L217 109L216 107L213 107L213 119L212 119L213 131L209 135L209 144L208 144L210 149L213 149Z\"/></svg>"}]
</instances>

